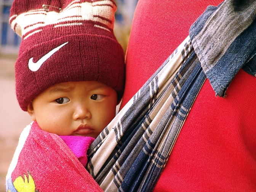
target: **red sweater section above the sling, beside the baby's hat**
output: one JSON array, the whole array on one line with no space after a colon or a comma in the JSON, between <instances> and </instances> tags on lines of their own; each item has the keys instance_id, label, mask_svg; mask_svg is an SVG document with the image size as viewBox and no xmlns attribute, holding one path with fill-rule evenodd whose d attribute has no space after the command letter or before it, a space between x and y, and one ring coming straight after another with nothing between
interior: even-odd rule
<instances>
[{"instance_id":1,"label":"red sweater section above the sling, beside the baby's hat","mask_svg":"<svg viewBox=\"0 0 256 192\"><path fill-rule=\"evenodd\" d=\"M126 81L121 108L189 35L208 5L222 0L139 0L126 52Z\"/></svg>"}]
</instances>

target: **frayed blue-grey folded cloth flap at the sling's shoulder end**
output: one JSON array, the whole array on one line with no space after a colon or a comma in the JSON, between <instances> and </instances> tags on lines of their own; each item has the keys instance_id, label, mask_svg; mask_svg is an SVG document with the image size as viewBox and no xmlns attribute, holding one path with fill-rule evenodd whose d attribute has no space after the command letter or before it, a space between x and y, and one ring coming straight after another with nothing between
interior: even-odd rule
<instances>
[{"instance_id":1,"label":"frayed blue-grey folded cloth flap at the sling's shoulder end","mask_svg":"<svg viewBox=\"0 0 256 192\"><path fill-rule=\"evenodd\" d=\"M206 77L216 95L225 96L243 67L255 75L256 1L224 1L209 6L191 26L189 35ZM254 59L252 60L254 61Z\"/></svg>"}]
</instances>

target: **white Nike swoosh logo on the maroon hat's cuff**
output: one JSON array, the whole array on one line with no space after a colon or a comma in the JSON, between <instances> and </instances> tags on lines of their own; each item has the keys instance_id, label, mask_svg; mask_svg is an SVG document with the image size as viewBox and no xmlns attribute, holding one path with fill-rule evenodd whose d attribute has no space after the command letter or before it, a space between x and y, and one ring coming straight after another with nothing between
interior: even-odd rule
<instances>
[{"instance_id":1,"label":"white Nike swoosh logo on the maroon hat's cuff","mask_svg":"<svg viewBox=\"0 0 256 192\"><path fill-rule=\"evenodd\" d=\"M68 42L63 43L62 45L54 48L53 50L51 50L50 52L48 52L46 55L44 55L41 59L39 59L37 62L33 62L33 58L29 59L29 69L33 72L36 72L38 69L40 69L40 67L42 66L42 64L49 59L54 53L56 53L60 48L62 48L62 46L66 45Z\"/></svg>"}]
</instances>

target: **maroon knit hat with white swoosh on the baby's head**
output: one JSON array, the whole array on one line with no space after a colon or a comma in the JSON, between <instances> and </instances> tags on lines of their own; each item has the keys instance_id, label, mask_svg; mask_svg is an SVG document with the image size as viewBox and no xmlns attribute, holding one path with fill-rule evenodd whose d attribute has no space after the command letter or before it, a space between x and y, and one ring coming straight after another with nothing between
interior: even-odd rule
<instances>
[{"instance_id":1,"label":"maroon knit hat with white swoosh on the baby's head","mask_svg":"<svg viewBox=\"0 0 256 192\"><path fill-rule=\"evenodd\" d=\"M116 9L114 0L14 0L10 24L22 37L15 64L22 110L63 82L99 81L122 98L125 65L113 33Z\"/></svg>"}]
</instances>

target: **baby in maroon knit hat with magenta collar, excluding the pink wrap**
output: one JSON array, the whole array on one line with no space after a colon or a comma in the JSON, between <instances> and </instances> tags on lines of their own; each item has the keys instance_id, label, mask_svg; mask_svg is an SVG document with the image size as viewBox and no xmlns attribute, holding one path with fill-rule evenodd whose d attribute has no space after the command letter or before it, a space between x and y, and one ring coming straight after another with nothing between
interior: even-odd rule
<instances>
[{"instance_id":1,"label":"baby in maroon knit hat with magenta collar, excluding the pink wrap","mask_svg":"<svg viewBox=\"0 0 256 192\"><path fill-rule=\"evenodd\" d=\"M86 150L82 157L77 150L87 149L115 117L124 89L124 53L113 32L116 5L52 2L13 2L11 27L22 37L16 95L32 126L61 136L85 165Z\"/></svg>"}]
</instances>

